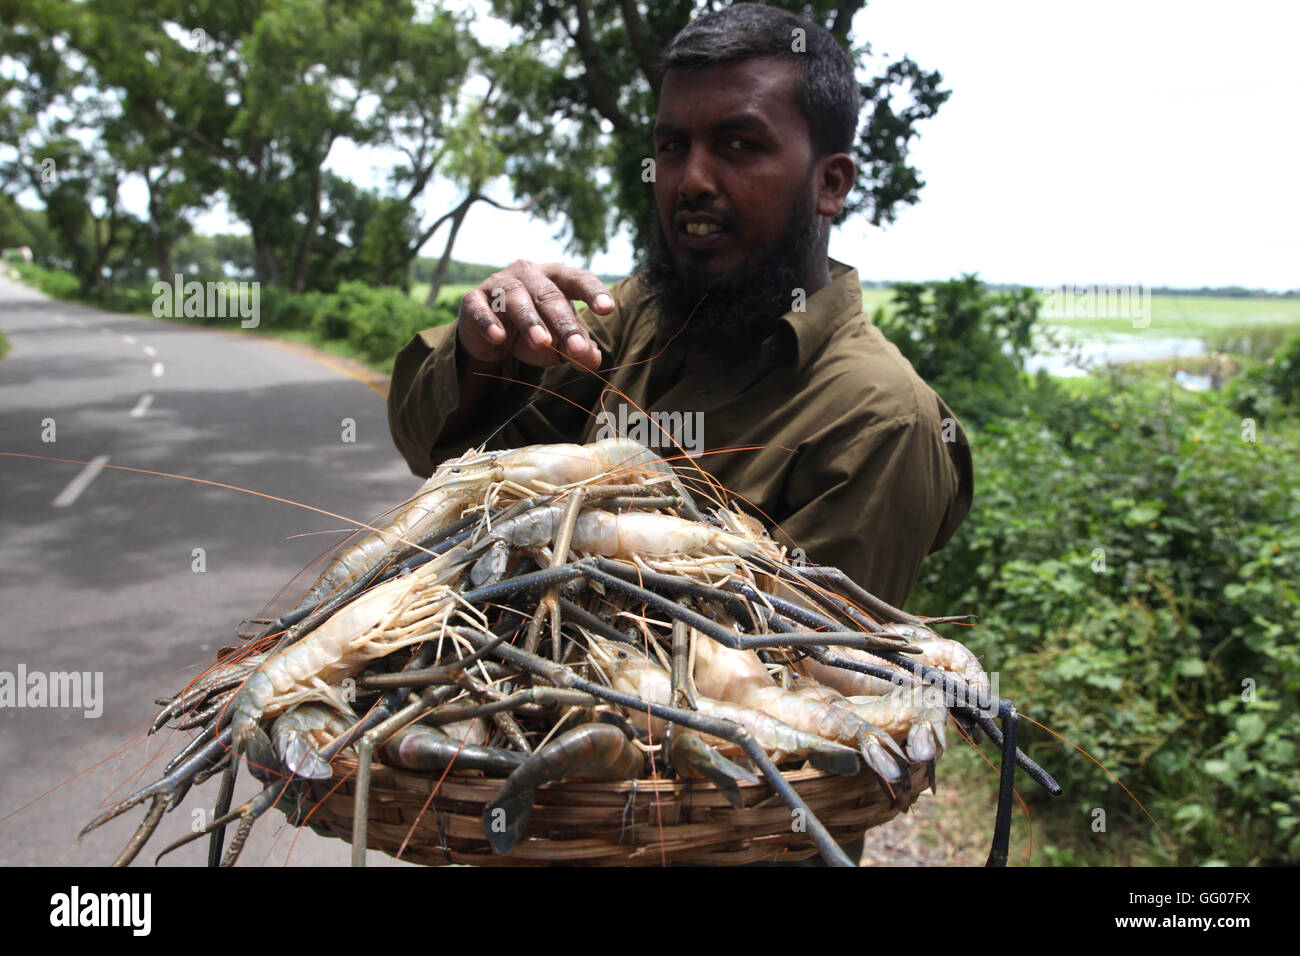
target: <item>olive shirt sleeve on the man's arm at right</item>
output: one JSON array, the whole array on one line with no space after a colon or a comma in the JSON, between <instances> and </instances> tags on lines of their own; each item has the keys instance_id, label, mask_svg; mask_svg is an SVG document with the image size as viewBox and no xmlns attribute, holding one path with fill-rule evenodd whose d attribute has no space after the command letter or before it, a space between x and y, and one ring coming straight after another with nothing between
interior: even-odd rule
<instances>
[{"instance_id":1,"label":"olive shirt sleeve on the man's arm at right","mask_svg":"<svg viewBox=\"0 0 1300 956\"><path fill-rule=\"evenodd\" d=\"M781 522L810 562L838 567L897 607L922 561L948 542L971 506L970 447L946 406L939 408L940 418L866 428L841 418L801 455L794 510Z\"/></svg>"}]
</instances>

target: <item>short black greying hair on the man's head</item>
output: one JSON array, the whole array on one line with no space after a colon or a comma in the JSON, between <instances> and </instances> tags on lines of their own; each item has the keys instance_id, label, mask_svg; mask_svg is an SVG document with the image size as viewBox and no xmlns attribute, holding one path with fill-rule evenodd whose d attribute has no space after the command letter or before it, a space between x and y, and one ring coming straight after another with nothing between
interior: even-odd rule
<instances>
[{"instance_id":1,"label":"short black greying hair on the man's head","mask_svg":"<svg viewBox=\"0 0 1300 956\"><path fill-rule=\"evenodd\" d=\"M862 111L853 61L829 33L797 13L763 4L706 13L668 42L663 68L698 70L760 56L798 62L800 112L809 124L814 156L850 152Z\"/></svg>"}]
</instances>

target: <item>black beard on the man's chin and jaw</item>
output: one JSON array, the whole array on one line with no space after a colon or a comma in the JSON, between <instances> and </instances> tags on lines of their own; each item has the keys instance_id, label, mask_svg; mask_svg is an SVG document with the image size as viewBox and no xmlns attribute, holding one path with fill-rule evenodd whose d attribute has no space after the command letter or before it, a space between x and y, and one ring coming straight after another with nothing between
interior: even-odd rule
<instances>
[{"instance_id":1,"label":"black beard on the man's chin and jaw","mask_svg":"<svg viewBox=\"0 0 1300 956\"><path fill-rule=\"evenodd\" d=\"M677 212L701 212L679 203ZM776 328L794 304L794 290L803 286L818 251L820 224L809 199L798 206L781 237L758 259L736 272L710 274L705 258L686 254L673 261L658 209L650 229L645 274L662 293L663 325L668 334L688 321L682 337L688 345L737 350L753 347Z\"/></svg>"}]
</instances>

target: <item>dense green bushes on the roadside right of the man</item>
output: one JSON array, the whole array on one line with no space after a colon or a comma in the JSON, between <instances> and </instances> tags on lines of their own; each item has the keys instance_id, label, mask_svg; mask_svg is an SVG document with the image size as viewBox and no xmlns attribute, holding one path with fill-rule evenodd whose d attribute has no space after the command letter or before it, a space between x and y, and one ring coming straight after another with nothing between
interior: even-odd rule
<instances>
[{"instance_id":1,"label":"dense green bushes on the roadside right of the man","mask_svg":"<svg viewBox=\"0 0 1300 956\"><path fill-rule=\"evenodd\" d=\"M961 636L1004 696L1119 777L1183 862L1296 858L1300 428L1154 386L1024 407L972 434L974 510L909 605L979 614ZM1102 806L1152 832L1091 761L1034 753L1079 827Z\"/></svg>"}]
</instances>

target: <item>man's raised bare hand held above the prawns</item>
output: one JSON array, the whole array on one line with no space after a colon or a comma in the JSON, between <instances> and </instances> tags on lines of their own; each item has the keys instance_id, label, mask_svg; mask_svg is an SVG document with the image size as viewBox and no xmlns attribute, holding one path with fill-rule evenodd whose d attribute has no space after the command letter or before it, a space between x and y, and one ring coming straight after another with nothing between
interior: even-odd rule
<instances>
[{"instance_id":1,"label":"man's raised bare hand held above the prawns","mask_svg":"<svg viewBox=\"0 0 1300 956\"><path fill-rule=\"evenodd\" d=\"M586 269L520 259L465 293L456 334L469 356L485 364L512 355L529 365L568 360L599 368L601 349L571 300L585 302L598 315L614 311L610 290Z\"/></svg>"}]
</instances>

